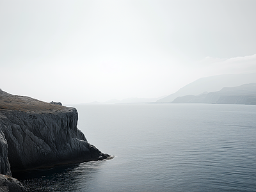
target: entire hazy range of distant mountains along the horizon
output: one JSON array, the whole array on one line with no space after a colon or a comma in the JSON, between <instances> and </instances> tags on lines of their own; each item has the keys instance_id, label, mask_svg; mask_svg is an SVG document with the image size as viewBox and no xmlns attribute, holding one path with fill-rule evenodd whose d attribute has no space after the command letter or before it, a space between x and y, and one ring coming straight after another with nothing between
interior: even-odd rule
<instances>
[{"instance_id":1,"label":"entire hazy range of distant mountains along the horizon","mask_svg":"<svg viewBox=\"0 0 256 192\"><path fill-rule=\"evenodd\" d=\"M106 102L91 102L87 104L160 104L160 103L211 103L211 104L255 104L256 73L250 74L223 74L218 76L202 77L180 88L177 92L158 98L110 99ZM248 84L248 85L246 85ZM244 86L243 86L244 85ZM237 87L237 88L236 88ZM224 88L224 89L223 89ZM237 94L231 90L239 90ZM216 100L216 94L221 96ZM224 92L225 99L224 99ZM250 92L248 94L248 92ZM204 100L206 94L207 99ZM220 95L221 93L221 95ZM215 95L210 99L210 95ZM254 94L254 96L253 96ZM243 98L239 98L243 97ZM254 99L253 99L254 98Z\"/></svg>"}]
</instances>

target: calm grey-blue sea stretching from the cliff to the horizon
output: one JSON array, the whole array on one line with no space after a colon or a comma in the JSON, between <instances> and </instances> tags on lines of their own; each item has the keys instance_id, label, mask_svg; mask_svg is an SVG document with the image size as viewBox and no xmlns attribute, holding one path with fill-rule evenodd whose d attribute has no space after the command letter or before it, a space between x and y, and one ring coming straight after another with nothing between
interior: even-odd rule
<instances>
[{"instance_id":1,"label":"calm grey-blue sea stretching from the cliff to the horizon","mask_svg":"<svg viewBox=\"0 0 256 192\"><path fill-rule=\"evenodd\" d=\"M29 191L256 191L256 106L74 107L115 158L14 175Z\"/></svg>"}]
</instances>

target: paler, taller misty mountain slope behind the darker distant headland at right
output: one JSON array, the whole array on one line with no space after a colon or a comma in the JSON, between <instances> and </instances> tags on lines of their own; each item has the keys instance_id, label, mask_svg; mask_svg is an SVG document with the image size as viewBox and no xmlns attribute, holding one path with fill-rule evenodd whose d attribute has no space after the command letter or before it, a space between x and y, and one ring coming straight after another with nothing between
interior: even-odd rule
<instances>
[{"instance_id":1,"label":"paler, taller misty mountain slope behind the darker distant headland at right","mask_svg":"<svg viewBox=\"0 0 256 192\"><path fill-rule=\"evenodd\" d=\"M256 73L203 77L180 88L179 91L157 100L157 102L172 102L177 97L198 95L203 92L217 92L223 87L239 86L246 83L256 83Z\"/></svg>"}]
</instances>

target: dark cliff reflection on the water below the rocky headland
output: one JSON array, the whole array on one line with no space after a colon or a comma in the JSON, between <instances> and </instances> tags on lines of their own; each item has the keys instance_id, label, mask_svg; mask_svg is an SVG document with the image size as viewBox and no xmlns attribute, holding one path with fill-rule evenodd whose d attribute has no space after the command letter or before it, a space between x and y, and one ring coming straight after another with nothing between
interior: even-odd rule
<instances>
[{"instance_id":1,"label":"dark cliff reflection on the water below the rocky headland","mask_svg":"<svg viewBox=\"0 0 256 192\"><path fill-rule=\"evenodd\" d=\"M100 161L56 166L51 169L13 173L28 191L86 191L99 170Z\"/></svg>"}]
</instances>

